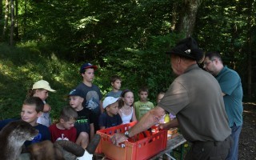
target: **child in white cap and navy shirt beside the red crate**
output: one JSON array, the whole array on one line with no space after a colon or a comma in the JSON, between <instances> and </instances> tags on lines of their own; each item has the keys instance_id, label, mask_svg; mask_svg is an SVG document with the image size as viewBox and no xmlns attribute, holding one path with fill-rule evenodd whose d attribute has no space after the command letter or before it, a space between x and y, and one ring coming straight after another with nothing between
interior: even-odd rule
<instances>
[{"instance_id":1,"label":"child in white cap and navy shirt beside the red crate","mask_svg":"<svg viewBox=\"0 0 256 160\"><path fill-rule=\"evenodd\" d=\"M118 114L118 99L106 97L103 101L104 112L100 115L98 126L100 130L122 124L122 118Z\"/></svg>"}]
</instances>

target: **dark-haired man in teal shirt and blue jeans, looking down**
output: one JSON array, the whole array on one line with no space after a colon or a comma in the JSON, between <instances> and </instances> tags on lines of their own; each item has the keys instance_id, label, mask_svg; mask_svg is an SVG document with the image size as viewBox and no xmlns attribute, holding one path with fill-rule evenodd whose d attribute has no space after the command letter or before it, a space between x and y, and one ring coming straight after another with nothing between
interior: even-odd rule
<instances>
[{"instance_id":1,"label":"dark-haired man in teal shirt and blue jeans, looking down","mask_svg":"<svg viewBox=\"0 0 256 160\"><path fill-rule=\"evenodd\" d=\"M242 82L235 70L223 65L219 52L209 52L204 59L204 68L217 79L222 89L225 110L231 128L233 145L226 160L238 159L239 135L242 130Z\"/></svg>"}]
</instances>

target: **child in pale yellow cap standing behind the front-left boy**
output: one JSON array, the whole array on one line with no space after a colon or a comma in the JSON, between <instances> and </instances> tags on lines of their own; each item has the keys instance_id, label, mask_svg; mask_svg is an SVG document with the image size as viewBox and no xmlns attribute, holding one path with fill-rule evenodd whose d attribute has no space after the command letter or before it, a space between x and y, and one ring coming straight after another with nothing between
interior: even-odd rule
<instances>
[{"instance_id":1,"label":"child in pale yellow cap standing behind the front-left boy","mask_svg":"<svg viewBox=\"0 0 256 160\"><path fill-rule=\"evenodd\" d=\"M45 103L42 111L42 115L38 118L38 123L50 126L51 120L50 120L50 105L46 103L46 98L48 98L48 91L50 92L56 92L56 90L53 90L50 88L49 82L45 80L40 80L38 82L35 82L32 89L28 91L27 97L38 97L42 99L42 102Z\"/></svg>"}]
</instances>

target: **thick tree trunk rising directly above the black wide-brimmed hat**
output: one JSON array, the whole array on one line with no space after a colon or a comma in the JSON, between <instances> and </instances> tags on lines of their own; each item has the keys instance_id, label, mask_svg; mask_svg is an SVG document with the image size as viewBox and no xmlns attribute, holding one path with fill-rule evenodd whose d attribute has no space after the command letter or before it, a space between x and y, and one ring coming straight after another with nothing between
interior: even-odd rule
<instances>
[{"instance_id":1,"label":"thick tree trunk rising directly above the black wide-brimmed hat","mask_svg":"<svg viewBox=\"0 0 256 160\"><path fill-rule=\"evenodd\" d=\"M179 12L178 32L190 37L194 30L198 7L202 0L184 0L184 4Z\"/></svg>"}]
</instances>

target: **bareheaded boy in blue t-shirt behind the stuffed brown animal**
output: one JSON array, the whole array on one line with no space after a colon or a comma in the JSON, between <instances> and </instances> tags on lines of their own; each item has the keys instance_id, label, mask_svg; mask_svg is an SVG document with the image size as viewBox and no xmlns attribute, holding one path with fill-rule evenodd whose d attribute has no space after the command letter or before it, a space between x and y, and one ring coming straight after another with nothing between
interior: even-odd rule
<instances>
[{"instance_id":1,"label":"bareheaded boy in blue t-shirt behind the stuffed brown animal","mask_svg":"<svg viewBox=\"0 0 256 160\"><path fill-rule=\"evenodd\" d=\"M35 142L42 142L45 140L50 140L50 131L47 126L38 124L38 117L41 116L44 103L41 98L30 97L26 98L22 105L21 118L23 121L30 123L35 129L38 130L38 135L34 137L32 141L26 141L25 146L30 146L30 144ZM17 121L17 118L5 119L0 121L0 130L6 126L9 122Z\"/></svg>"}]
</instances>

